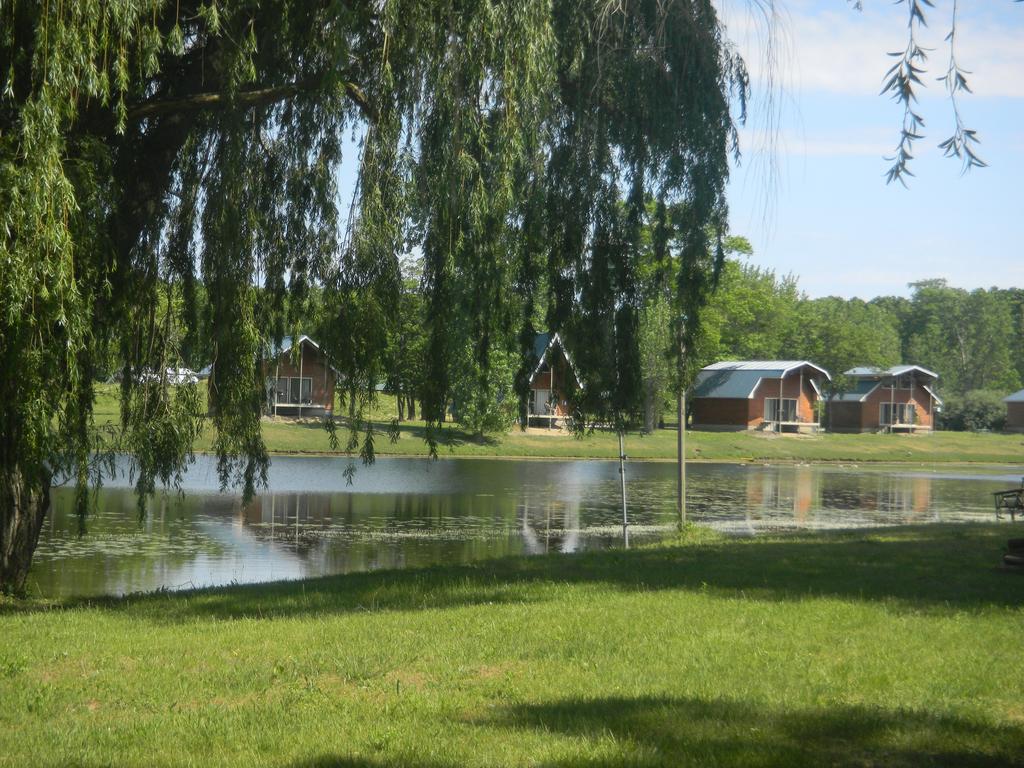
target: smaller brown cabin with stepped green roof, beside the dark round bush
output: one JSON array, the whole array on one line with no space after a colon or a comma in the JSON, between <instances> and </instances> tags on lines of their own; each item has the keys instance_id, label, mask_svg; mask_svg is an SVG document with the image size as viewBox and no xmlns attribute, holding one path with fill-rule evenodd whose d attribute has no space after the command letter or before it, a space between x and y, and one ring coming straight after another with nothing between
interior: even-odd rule
<instances>
[{"instance_id":1,"label":"smaller brown cabin with stepped green roof, beside the dark round bush","mask_svg":"<svg viewBox=\"0 0 1024 768\"><path fill-rule=\"evenodd\" d=\"M828 400L833 432L931 432L942 400L935 394L939 375L920 366L854 368L853 382Z\"/></svg>"}]
</instances>

